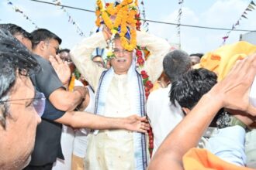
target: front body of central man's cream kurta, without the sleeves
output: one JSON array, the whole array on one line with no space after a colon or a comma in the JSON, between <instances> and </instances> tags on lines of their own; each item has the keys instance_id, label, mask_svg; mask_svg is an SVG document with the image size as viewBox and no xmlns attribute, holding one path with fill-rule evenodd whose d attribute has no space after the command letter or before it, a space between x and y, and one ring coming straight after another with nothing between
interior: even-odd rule
<instances>
[{"instance_id":1,"label":"front body of central man's cream kurta, without the sleeves","mask_svg":"<svg viewBox=\"0 0 256 170\"><path fill-rule=\"evenodd\" d=\"M109 87L105 115L127 117L130 98L127 75L114 75ZM126 130L99 131L89 135L85 169L134 169L133 133Z\"/></svg>"}]
</instances>

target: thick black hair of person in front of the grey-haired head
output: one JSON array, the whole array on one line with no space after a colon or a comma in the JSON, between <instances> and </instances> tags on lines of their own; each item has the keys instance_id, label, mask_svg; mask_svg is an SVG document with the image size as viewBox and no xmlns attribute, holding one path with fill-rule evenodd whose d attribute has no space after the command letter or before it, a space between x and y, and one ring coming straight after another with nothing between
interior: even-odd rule
<instances>
[{"instance_id":1,"label":"thick black hair of person in front of the grey-haired head","mask_svg":"<svg viewBox=\"0 0 256 170\"><path fill-rule=\"evenodd\" d=\"M197 104L203 94L217 83L216 73L206 69L189 70L171 83L170 100L190 110Z\"/></svg>"}]
</instances>

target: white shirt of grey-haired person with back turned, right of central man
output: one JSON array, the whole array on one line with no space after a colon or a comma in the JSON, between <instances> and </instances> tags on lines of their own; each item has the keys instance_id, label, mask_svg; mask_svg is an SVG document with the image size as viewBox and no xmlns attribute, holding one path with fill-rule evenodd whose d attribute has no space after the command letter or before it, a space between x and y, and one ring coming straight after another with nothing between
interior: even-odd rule
<instances>
[{"instance_id":1,"label":"white shirt of grey-haired person with back turned, right of central man","mask_svg":"<svg viewBox=\"0 0 256 170\"><path fill-rule=\"evenodd\" d=\"M147 116L154 134L153 155L164 138L182 121L184 114L177 104L175 107L169 99L171 84L166 88L154 90L147 99Z\"/></svg>"}]
</instances>

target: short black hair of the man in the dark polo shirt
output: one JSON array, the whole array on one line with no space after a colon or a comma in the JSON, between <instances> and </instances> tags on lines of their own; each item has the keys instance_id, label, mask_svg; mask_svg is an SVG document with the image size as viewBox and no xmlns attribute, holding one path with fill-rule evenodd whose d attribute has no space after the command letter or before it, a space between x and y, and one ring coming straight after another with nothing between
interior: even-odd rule
<instances>
[{"instance_id":1,"label":"short black hair of the man in the dark polo shirt","mask_svg":"<svg viewBox=\"0 0 256 170\"><path fill-rule=\"evenodd\" d=\"M55 39L59 44L61 44L61 38L58 37L56 34L53 32L50 32L47 29L36 29L33 32L31 32L32 36L32 49L35 49L36 46L41 42L41 41L47 41L50 39Z\"/></svg>"}]
</instances>

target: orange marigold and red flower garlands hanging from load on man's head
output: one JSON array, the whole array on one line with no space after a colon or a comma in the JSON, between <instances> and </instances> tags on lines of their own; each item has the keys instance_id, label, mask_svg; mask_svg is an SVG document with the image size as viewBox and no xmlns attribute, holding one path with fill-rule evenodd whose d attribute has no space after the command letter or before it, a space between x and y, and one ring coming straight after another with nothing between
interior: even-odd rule
<instances>
[{"instance_id":1,"label":"orange marigold and red flower garlands hanging from load on man's head","mask_svg":"<svg viewBox=\"0 0 256 170\"><path fill-rule=\"evenodd\" d=\"M100 26L100 21L103 20L105 25L111 30L112 38L110 39L110 50L107 54L107 59L112 59L115 55L112 53L112 39L118 32L120 27L120 40L124 49L132 51L137 47L137 32L140 30L140 13L138 12L138 2L137 0L123 0L119 5L114 6L113 3L106 3L106 8L102 5L102 0L97 0L96 8L96 26ZM116 19L112 22L111 16L116 16ZM130 41L125 38L126 33L130 31ZM144 54L144 55L143 55ZM147 49L141 49L137 47L137 64L140 68L143 68L145 60L149 56ZM149 76L145 70L141 71L141 76L143 78L144 90L146 99L150 94L150 89L153 87L153 83L149 80ZM152 151L154 148L154 134L152 128L148 131L149 135L149 151L150 157L152 156Z\"/></svg>"}]
</instances>

